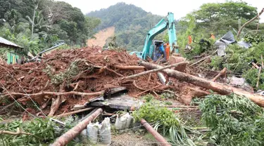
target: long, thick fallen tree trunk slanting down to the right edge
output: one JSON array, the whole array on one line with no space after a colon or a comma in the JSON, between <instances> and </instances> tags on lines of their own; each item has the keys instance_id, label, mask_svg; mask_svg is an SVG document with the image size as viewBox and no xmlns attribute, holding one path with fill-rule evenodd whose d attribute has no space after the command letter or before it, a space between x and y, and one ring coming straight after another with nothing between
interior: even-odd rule
<instances>
[{"instance_id":1,"label":"long, thick fallen tree trunk slanting down to the right edge","mask_svg":"<svg viewBox=\"0 0 264 146\"><path fill-rule=\"evenodd\" d=\"M147 69L161 69L160 65L154 65L149 62L141 62L141 65L146 67ZM161 72L165 72L169 77L174 77L175 79L179 79L180 81L186 81L190 84L194 84L196 86L201 86L203 88L210 89L212 91L218 92L222 95L228 95L231 93L235 93L237 95L245 96L249 98L256 104L260 105L260 107L264 107L264 97L262 95L258 95L255 93L249 93L239 88L234 88L232 86L215 83L213 81L208 81L206 79L195 77L191 74L186 74L184 72L178 72L177 70L172 69L163 69Z\"/></svg>"}]
</instances>

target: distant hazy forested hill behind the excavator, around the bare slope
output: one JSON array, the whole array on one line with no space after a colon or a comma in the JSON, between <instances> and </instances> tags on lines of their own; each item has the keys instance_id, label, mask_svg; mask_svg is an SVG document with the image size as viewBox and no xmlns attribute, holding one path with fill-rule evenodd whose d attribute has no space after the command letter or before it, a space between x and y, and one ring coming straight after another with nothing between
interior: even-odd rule
<instances>
[{"instance_id":1,"label":"distant hazy forested hill behind the excavator, around the bare slope","mask_svg":"<svg viewBox=\"0 0 264 146\"><path fill-rule=\"evenodd\" d=\"M114 26L118 45L127 48L128 51L142 51L147 32L163 18L125 3L92 11L87 13L87 16L101 19L101 25L97 29Z\"/></svg>"}]
</instances>

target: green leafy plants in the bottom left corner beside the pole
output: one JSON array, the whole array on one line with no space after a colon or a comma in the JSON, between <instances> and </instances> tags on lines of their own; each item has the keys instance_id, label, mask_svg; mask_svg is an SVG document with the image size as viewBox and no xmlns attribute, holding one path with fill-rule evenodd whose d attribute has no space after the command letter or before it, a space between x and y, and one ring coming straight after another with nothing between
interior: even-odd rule
<instances>
[{"instance_id":1,"label":"green leafy plants in the bottom left corner beside the pole","mask_svg":"<svg viewBox=\"0 0 264 146\"><path fill-rule=\"evenodd\" d=\"M22 132L30 133L32 135L0 135L0 145L3 146L17 146L17 145L49 145L56 138L61 136L66 131L70 130L77 124L73 117L66 117L62 119L65 126L61 127L51 121L50 119L32 119L31 121L15 120L6 124L0 124L0 131L17 132L19 129ZM4 122L0 117L0 122ZM68 145L80 145L78 142L72 140Z\"/></svg>"}]
</instances>

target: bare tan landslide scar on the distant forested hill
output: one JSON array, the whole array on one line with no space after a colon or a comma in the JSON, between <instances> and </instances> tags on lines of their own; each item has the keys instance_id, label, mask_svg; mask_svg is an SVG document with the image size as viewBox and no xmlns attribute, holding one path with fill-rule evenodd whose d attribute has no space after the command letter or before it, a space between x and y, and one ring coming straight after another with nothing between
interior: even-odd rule
<instances>
[{"instance_id":1,"label":"bare tan landslide scar on the distant forested hill","mask_svg":"<svg viewBox=\"0 0 264 146\"><path fill-rule=\"evenodd\" d=\"M108 27L106 29L103 29L94 35L96 39L89 39L87 41L87 45L103 47L106 44L106 39L108 39L108 37L110 36L113 36L114 33L115 33L115 27Z\"/></svg>"}]
</instances>

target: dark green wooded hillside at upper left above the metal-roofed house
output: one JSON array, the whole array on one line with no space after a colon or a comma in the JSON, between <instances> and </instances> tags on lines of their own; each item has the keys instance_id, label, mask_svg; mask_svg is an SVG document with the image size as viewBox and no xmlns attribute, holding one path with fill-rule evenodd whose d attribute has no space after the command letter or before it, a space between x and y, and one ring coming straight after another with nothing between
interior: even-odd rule
<instances>
[{"instance_id":1,"label":"dark green wooded hillside at upper left above the metal-roofed house","mask_svg":"<svg viewBox=\"0 0 264 146\"><path fill-rule=\"evenodd\" d=\"M0 4L0 36L23 46L23 53L37 53L58 41L84 46L100 23L62 1L0 0Z\"/></svg>"}]
</instances>

